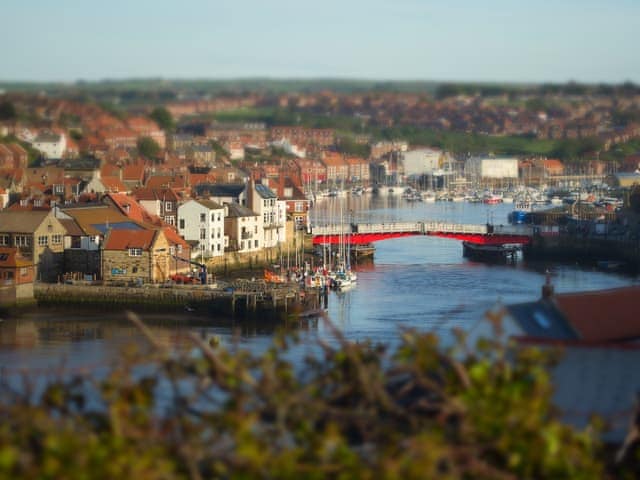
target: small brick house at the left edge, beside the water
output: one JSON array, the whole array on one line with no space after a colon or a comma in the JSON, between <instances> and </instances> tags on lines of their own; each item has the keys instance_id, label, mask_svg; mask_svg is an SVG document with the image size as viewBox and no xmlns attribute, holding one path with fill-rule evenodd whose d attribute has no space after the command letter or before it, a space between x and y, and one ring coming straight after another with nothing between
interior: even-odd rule
<instances>
[{"instance_id":1,"label":"small brick house at the left edge, beside the water","mask_svg":"<svg viewBox=\"0 0 640 480\"><path fill-rule=\"evenodd\" d=\"M15 247L0 247L0 305L33 300L33 262Z\"/></svg>"}]
</instances>

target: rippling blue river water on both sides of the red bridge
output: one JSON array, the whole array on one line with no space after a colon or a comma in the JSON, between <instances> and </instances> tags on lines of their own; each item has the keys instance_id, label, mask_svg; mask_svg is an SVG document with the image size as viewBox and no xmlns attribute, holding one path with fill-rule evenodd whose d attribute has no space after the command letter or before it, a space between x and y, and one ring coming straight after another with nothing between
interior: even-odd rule
<instances>
[{"instance_id":1,"label":"rippling blue river water on both sides of the red bridge","mask_svg":"<svg viewBox=\"0 0 640 480\"><path fill-rule=\"evenodd\" d=\"M371 196L323 199L312 221L446 220L456 223L506 223L513 205L469 203L408 203L401 198ZM453 327L468 328L498 302L539 298L545 272L556 292L586 291L638 283L637 278L601 272L590 265L528 263L488 265L462 257L459 241L436 237L406 237L376 244L375 261L356 267L357 287L331 293L328 317L351 340L393 342L400 327L438 332L445 341ZM262 351L271 343L273 326L234 324L191 314L143 315L158 340L186 345L195 331L225 343ZM296 357L326 338L318 322L303 330ZM122 313L36 310L0 322L0 369L5 372L56 374L93 373L108 368L130 342L142 342Z\"/></svg>"}]
</instances>

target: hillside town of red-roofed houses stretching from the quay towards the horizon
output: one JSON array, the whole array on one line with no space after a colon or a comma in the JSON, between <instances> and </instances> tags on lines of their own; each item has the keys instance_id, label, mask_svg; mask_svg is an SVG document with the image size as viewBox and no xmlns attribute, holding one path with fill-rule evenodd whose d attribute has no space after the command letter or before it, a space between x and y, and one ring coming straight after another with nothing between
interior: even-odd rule
<instances>
[{"instance_id":1,"label":"hillside town of red-roofed houses stretching from the quay towards the horizon","mask_svg":"<svg viewBox=\"0 0 640 480\"><path fill-rule=\"evenodd\" d=\"M640 136L639 123L615 126L613 114L614 108L636 111L640 96L562 99L566 108L533 113L465 95L427 100L323 91L268 101L376 124L390 125L393 118L415 128L597 137L601 151L585 152L580 173L602 185L630 186L640 179L637 152L620 162L599 159ZM264 102L264 96L249 94L114 113L46 94L0 96L0 248L15 270L5 278L186 280L197 275L198 265L277 258L296 232L308 228L310 206L319 196L413 185L451 200L478 195L477 189L570 186L578 172L576 162L543 155L461 155L354 132L346 148L345 132L337 127L206 116ZM478 125L491 128L484 132Z\"/></svg>"}]
</instances>

